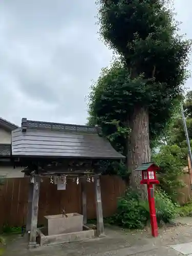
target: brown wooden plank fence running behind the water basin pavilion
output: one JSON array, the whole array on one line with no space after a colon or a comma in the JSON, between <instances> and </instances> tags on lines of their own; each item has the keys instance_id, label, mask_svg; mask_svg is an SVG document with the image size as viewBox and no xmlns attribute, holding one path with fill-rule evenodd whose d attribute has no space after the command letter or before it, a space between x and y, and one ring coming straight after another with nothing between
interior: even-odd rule
<instances>
[{"instance_id":1,"label":"brown wooden plank fence running behind the water basin pavilion","mask_svg":"<svg viewBox=\"0 0 192 256\"><path fill-rule=\"evenodd\" d=\"M88 219L96 218L95 189L92 182L87 182ZM0 187L0 227L22 226L26 224L28 207L28 178L9 178ZM101 176L101 196L103 217L110 217L117 208L117 199L125 191L125 183L118 176ZM69 180L66 190L57 190L50 184L49 178L43 178L40 184L38 224L44 224L44 216L67 212L82 213L81 185Z\"/></svg>"}]
</instances>

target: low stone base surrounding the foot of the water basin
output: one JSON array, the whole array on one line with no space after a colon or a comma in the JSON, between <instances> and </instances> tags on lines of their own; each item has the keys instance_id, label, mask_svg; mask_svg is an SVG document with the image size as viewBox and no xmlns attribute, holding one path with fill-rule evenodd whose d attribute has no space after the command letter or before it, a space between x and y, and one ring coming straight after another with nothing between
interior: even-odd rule
<instances>
[{"instance_id":1,"label":"low stone base surrounding the foot of the water basin","mask_svg":"<svg viewBox=\"0 0 192 256\"><path fill-rule=\"evenodd\" d=\"M39 228L38 234L40 246L63 244L95 238L95 231L93 229L89 229L86 225L83 225L83 231L54 234L52 236L47 235L46 228Z\"/></svg>"}]
</instances>

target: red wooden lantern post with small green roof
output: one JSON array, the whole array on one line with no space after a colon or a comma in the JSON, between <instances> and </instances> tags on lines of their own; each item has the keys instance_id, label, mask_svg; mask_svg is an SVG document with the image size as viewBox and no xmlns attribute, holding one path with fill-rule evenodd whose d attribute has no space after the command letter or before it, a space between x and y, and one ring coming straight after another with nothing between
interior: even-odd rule
<instances>
[{"instance_id":1,"label":"red wooden lantern post with small green roof","mask_svg":"<svg viewBox=\"0 0 192 256\"><path fill-rule=\"evenodd\" d=\"M137 167L136 170L141 171L142 180L140 184L147 184L147 193L148 193L148 205L150 207L150 219L152 226L152 236L158 237L158 225L156 218L155 210L155 198L154 198L154 184L159 184L159 181L156 179L156 171L159 169L155 163L142 163Z\"/></svg>"}]
</instances>

